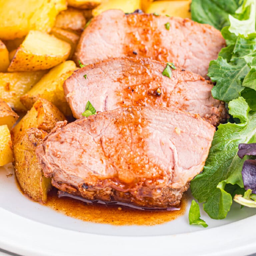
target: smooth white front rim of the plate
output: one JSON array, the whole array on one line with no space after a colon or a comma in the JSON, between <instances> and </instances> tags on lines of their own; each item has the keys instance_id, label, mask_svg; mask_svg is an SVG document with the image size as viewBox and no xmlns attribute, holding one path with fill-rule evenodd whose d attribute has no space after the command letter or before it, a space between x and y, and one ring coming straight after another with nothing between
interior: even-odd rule
<instances>
[{"instance_id":1,"label":"smooth white front rim of the plate","mask_svg":"<svg viewBox=\"0 0 256 256\"><path fill-rule=\"evenodd\" d=\"M120 250L123 256L130 256L135 251L147 256L170 255L170 252L179 253L179 256L242 256L256 252L256 229L251 224L255 221L256 215L176 235L108 236L53 227L0 207L0 248L22 256L117 256ZM132 246L128 246L130 244Z\"/></svg>"}]
</instances>

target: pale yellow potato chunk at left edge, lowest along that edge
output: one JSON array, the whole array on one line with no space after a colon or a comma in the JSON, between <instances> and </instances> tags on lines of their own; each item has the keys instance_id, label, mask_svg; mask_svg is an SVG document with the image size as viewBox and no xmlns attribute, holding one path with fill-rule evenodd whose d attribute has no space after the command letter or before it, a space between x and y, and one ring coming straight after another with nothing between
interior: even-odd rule
<instances>
[{"instance_id":1,"label":"pale yellow potato chunk at left edge, lowest along that edge","mask_svg":"<svg viewBox=\"0 0 256 256\"><path fill-rule=\"evenodd\" d=\"M0 126L0 166L13 162L12 140L7 125Z\"/></svg>"}]
</instances>

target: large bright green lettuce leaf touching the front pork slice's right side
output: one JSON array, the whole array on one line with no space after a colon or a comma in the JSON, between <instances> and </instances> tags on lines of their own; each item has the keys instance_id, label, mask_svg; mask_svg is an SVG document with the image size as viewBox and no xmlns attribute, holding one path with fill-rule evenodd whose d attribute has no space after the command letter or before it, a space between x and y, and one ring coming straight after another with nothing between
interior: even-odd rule
<instances>
[{"instance_id":1,"label":"large bright green lettuce leaf touching the front pork slice's right side","mask_svg":"<svg viewBox=\"0 0 256 256\"><path fill-rule=\"evenodd\" d=\"M204 203L204 210L214 219L225 218L230 210L232 196L226 186L243 188L241 170L248 158L238 157L238 145L256 142L256 112L250 111L242 97L230 101L228 106L229 113L239 118L240 123L219 125L203 172L190 185L192 195L199 203Z\"/></svg>"}]
</instances>

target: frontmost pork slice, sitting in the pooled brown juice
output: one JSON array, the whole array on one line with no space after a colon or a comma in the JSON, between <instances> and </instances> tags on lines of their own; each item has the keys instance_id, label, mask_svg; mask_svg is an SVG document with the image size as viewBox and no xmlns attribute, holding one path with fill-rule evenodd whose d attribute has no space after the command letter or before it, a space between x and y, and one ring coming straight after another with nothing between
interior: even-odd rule
<instances>
[{"instance_id":1,"label":"frontmost pork slice, sitting in the pooled brown juice","mask_svg":"<svg viewBox=\"0 0 256 256\"><path fill-rule=\"evenodd\" d=\"M203 168L214 126L170 108L119 108L58 126L36 149L56 188L89 200L178 205Z\"/></svg>"}]
</instances>

